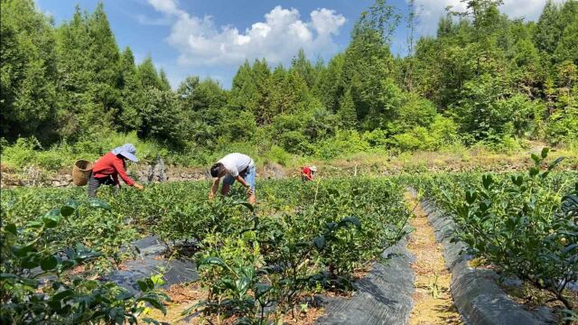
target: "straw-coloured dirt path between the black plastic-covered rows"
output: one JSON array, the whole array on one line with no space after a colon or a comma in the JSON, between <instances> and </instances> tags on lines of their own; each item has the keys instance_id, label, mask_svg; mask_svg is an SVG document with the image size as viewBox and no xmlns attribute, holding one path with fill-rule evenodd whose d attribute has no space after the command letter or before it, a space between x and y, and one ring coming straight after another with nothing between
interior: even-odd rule
<instances>
[{"instance_id":1,"label":"straw-coloured dirt path between the black plastic-covered rows","mask_svg":"<svg viewBox=\"0 0 578 325\"><path fill-rule=\"evenodd\" d=\"M418 203L411 193L406 192L406 205L415 214L415 218L410 220L415 231L407 245L415 255L412 264L415 274L414 310L408 324L461 324L450 292L452 274L445 268L442 246L435 242L433 228Z\"/></svg>"}]
</instances>

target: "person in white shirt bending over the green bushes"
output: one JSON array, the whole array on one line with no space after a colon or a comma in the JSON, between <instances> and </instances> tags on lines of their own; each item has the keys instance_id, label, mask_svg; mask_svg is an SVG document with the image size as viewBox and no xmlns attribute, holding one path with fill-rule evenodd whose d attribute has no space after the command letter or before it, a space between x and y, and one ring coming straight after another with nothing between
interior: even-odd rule
<instances>
[{"instance_id":1,"label":"person in white shirt bending over the green bushes","mask_svg":"<svg viewBox=\"0 0 578 325\"><path fill-rule=\"evenodd\" d=\"M240 182L246 189L249 203L255 205L255 162L247 154L229 153L210 167L210 176L213 177L213 185L210 187L209 199L212 200L219 190L219 181L223 180L223 187L220 192L228 194L230 186L235 182Z\"/></svg>"}]
</instances>

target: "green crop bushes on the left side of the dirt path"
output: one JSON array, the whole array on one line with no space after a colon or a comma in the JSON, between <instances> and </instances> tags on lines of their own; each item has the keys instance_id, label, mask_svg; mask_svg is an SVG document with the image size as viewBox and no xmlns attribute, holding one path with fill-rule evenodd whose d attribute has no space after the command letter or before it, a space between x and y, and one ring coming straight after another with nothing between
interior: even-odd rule
<instances>
[{"instance_id":1,"label":"green crop bushes on the left side of the dirt path","mask_svg":"<svg viewBox=\"0 0 578 325\"><path fill-rule=\"evenodd\" d=\"M3 320L130 322L143 318L144 302L163 311L160 276L137 293L98 281L130 258L123 246L153 233L197 261L207 295L196 315L282 320L313 304L312 293L350 292L356 274L406 235L395 180L263 181L256 209L242 193L208 201L207 188L170 183L89 201L78 189L6 191Z\"/></svg>"}]
</instances>

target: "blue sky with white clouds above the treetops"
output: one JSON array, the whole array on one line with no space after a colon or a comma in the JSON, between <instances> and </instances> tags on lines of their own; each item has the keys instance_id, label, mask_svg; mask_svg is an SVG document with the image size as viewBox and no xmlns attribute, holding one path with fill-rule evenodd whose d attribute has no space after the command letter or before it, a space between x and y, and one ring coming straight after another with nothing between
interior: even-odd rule
<instances>
[{"instance_id":1,"label":"blue sky with white clouds above the treetops","mask_svg":"<svg viewBox=\"0 0 578 325\"><path fill-rule=\"evenodd\" d=\"M188 75L219 80L230 88L238 65L245 59L266 58L271 65L289 64L303 48L312 60L343 51L359 14L371 0L104 0L105 11L119 47L130 48L140 62L151 55L167 73L172 87ZM406 0L390 0L406 14ZM447 5L459 0L416 0L420 12L418 34L433 34ZM58 25L70 20L75 5L89 12L95 0L36 0ZM534 20L545 0L506 0L502 11ZM404 54L406 28L396 31L394 53Z\"/></svg>"}]
</instances>

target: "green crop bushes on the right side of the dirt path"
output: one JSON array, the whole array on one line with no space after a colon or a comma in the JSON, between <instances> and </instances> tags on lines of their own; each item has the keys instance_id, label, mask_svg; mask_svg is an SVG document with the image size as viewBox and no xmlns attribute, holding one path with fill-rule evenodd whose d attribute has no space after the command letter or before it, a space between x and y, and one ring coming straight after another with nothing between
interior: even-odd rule
<instances>
[{"instance_id":1,"label":"green crop bushes on the right side of the dirt path","mask_svg":"<svg viewBox=\"0 0 578 325\"><path fill-rule=\"evenodd\" d=\"M450 236L465 244L471 266L496 271L527 309L547 304L560 321L575 320L578 173L555 173L561 160L546 157L547 150L533 155L526 173L432 175L414 183L452 218Z\"/></svg>"}]
</instances>

